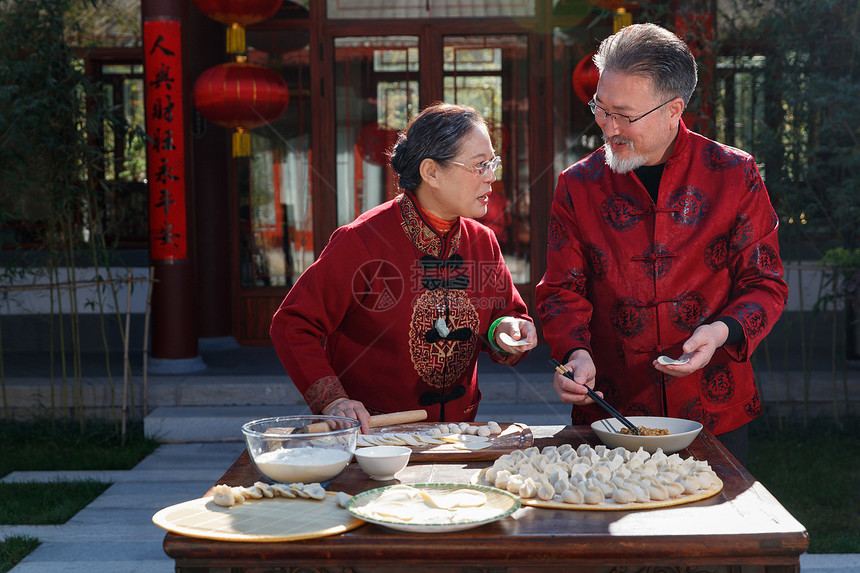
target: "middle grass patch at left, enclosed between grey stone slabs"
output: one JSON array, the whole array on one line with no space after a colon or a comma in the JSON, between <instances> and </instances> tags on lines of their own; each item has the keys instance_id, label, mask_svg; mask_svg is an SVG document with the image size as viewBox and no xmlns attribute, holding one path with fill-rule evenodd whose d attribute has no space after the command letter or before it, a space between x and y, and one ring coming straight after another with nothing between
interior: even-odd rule
<instances>
[{"instance_id":1,"label":"middle grass patch at left, enclosed between grey stone slabs","mask_svg":"<svg viewBox=\"0 0 860 573\"><path fill-rule=\"evenodd\" d=\"M48 483L0 483L0 523L51 525L65 523L108 488L87 480Z\"/></svg>"}]
</instances>

